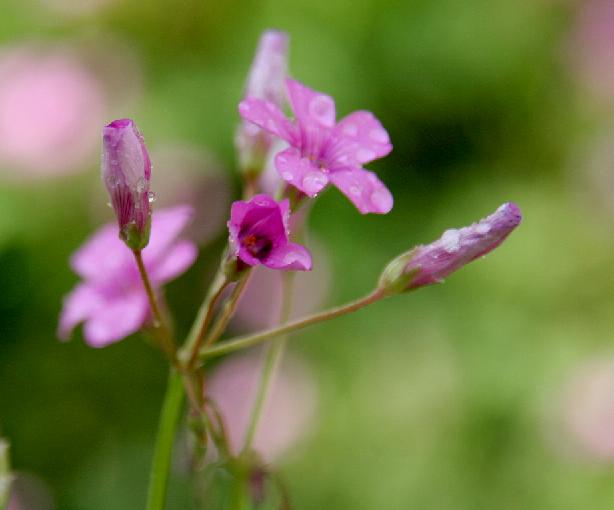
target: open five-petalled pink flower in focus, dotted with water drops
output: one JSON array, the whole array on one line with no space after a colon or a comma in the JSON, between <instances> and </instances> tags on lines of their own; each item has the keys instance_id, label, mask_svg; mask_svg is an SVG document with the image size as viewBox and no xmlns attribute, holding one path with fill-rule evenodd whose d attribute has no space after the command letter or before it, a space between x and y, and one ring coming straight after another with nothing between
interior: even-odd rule
<instances>
[{"instance_id":1,"label":"open five-petalled pink flower in focus, dotted with water drops","mask_svg":"<svg viewBox=\"0 0 614 510\"><path fill-rule=\"evenodd\" d=\"M370 112L357 111L336 123L330 96L294 80L286 80L286 85L295 123L271 101L249 97L239 104L241 117L290 144L275 158L282 179L310 197L330 182L361 213L389 212L390 191L373 172L362 168L392 150L380 122Z\"/></svg>"}]
</instances>

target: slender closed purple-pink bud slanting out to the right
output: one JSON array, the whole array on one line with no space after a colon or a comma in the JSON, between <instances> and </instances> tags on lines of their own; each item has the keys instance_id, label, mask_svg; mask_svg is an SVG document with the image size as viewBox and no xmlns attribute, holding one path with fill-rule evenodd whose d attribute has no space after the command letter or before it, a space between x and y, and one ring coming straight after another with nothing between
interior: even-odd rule
<instances>
[{"instance_id":1,"label":"slender closed purple-pink bud slanting out to the right","mask_svg":"<svg viewBox=\"0 0 614 510\"><path fill-rule=\"evenodd\" d=\"M499 246L522 219L512 202L503 204L478 223L446 230L431 244L417 246L388 264L379 281L387 294L440 283L449 274Z\"/></svg>"}]
</instances>

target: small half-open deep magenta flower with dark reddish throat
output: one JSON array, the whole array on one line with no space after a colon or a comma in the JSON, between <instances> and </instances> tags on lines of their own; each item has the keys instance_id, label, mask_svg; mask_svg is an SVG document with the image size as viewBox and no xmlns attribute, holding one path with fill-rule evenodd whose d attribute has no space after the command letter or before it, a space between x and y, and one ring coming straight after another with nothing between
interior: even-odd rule
<instances>
[{"instance_id":1,"label":"small half-open deep magenta flower with dark reddish throat","mask_svg":"<svg viewBox=\"0 0 614 510\"><path fill-rule=\"evenodd\" d=\"M310 271L309 251L288 241L289 218L288 200L278 203L268 195L256 195L249 202L234 202L228 222L233 255L248 266Z\"/></svg>"}]
</instances>

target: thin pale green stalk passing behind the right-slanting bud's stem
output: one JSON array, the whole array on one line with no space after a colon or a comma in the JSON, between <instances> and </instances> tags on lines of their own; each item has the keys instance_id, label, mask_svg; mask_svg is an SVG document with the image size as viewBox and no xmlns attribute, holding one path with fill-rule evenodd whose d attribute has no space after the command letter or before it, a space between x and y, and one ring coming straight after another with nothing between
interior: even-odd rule
<instances>
[{"instance_id":1,"label":"thin pale green stalk passing behind the right-slanting bud's stem","mask_svg":"<svg viewBox=\"0 0 614 510\"><path fill-rule=\"evenodd\" d=\"M294 273L285 273L283 275L283 289L282 289L282 307L279 318L279 323L284 324L290 319L292 313L292 289L294 287ZM260 375L260 383L258 384L258 390L256 392L256 399L252 407L252 414L250 417L247 432L245 434L245 443L243 445L242 454L248 452L252 447L256 432L258 430L258 422L264 411L267 397L275 377L275 371L281 363L281 358L286 346L286 340L288 335L282 335L274 340L269 345L264 363L262 365L262 373Z\"/></svg>"}]
</instances>

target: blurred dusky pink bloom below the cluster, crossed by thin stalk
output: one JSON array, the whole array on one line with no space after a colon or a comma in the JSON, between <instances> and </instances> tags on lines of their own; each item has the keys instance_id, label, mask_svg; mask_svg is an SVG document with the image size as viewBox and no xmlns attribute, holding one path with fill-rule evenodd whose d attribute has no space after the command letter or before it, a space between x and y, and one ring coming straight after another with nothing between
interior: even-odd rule
<instances>
[{"instance_id":1,"label":"blurred dusky pink bloom below the cluster, crossed by thin stalk","mask_svg":"<svg viewBox=\"0 0 614 510\"><path fill-rule=\"evenodd\" d=\"M261 356L255 352L233 356L207 381L208 396L221 410L234 453L243 446L261 365ZM313 425L315 409L315 380L303 363L287 356L271 386L254 449L266 462L276 461Z\"/></svg>"}]
</instances>

